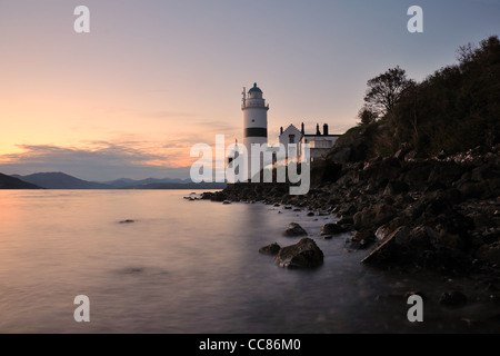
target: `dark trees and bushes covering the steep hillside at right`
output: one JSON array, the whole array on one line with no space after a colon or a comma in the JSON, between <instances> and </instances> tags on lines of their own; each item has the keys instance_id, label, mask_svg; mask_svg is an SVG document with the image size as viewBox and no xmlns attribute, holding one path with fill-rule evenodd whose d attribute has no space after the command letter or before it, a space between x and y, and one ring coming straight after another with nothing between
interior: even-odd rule
<instances>
[{"instance_id":1,"label":"dark trees and bushes covering the steep hillside at right","mask_svg":"<svg viewBox=\"0 0 500 356\"><path fill-rule=\"evenodd\" d=\"M361 141L366 157L360 158L367 158L392 155L406 144L419 157L430 157L441 151L456 154L498 145L498 36L482 40L479 46L460 47L457 59L458 63L437 70L419 83L407 79L399 67L370 79L366 106L359 112L360 126L346 132L337 148L359 146ZM394 82L397 96L388 90L392 90L388 85Z\"/></svg>"}]
</instances>

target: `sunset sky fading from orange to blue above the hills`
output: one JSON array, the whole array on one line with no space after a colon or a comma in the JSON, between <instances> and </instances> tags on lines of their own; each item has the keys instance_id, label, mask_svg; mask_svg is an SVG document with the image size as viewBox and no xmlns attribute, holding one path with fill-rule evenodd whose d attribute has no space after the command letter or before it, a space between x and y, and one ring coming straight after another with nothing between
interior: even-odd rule
<instances>
[{"instance_id":1,"label":"sunset sky fading from orange to blue above the hills","mask_svg":"<svg viewBox=\"0 0 500 356\"><path fill-rule=\"evenodd\" d=\"M270 144L290 123L343 134L370 78L423 80L492 34L500 0L0 0L0 172L189 178L194 144L242 140L242 87L269 102Z\"/></svg>"}]
</instances>

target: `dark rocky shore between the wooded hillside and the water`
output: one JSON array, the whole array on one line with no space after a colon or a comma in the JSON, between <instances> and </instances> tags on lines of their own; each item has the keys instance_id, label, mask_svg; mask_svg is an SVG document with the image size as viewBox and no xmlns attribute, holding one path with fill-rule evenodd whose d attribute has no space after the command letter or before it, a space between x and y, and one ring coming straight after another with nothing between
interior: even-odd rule
<instances>
[{"instance_id":1,"label":"dark rocky shore between the wooded hillside and the water","mask_svg":"<svg viewBox=\"0 0 500 356\"><path fill-rule=\"evenodd\" d=\"M204 192L213 201L263 201L333 214L323 227L352 231L347 246L363 264L447 274L500 276L500 147L417 159L404 145L392 157L358 159L351 147L311 165L311 189L234 184Z\"/></svg>"}]
</instances>

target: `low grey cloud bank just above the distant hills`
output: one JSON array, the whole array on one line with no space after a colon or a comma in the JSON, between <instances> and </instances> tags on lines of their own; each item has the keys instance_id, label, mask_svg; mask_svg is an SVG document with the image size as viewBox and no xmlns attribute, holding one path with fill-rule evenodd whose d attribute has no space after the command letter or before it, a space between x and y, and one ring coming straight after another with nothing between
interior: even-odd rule
<instances>
[{"instance_id":1,"label":"low grey cloud bank just above the distant hills","mask_svg":"<svg viewBox=\"0 0 500 356\"><path fill-rule=\"evenodd\" d=\"M63 171L81 179L101 181L122 177L189 178L190 167L176 165L178 152L161 149L161 145L154 147L149 142L150 147L146 147L146 142L141 144L93 141L87 147L19 145L22 152L0 156L0 171L20 175Z\"/></svg>"}]
</instances>

